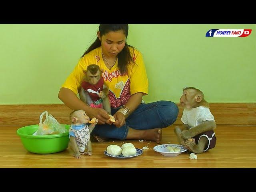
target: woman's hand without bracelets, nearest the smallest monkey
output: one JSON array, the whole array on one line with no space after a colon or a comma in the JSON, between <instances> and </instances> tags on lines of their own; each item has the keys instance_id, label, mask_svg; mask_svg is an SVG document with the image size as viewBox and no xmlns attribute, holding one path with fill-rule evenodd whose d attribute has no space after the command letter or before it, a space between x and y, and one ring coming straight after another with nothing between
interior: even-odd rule
<instances>
[{"instance_id":1,"label":"woman's hand without bracelets, nearest the smallest monkey","mask_svg":"<svg viewBox=\"0 0 256 192\"><path fill-rule=\"evenodd\" d=\"M108 120L108 112L102 108L90 108L90 110L86 111L86 115L88 115L90 119L96 117L99 120L98 124L111 124Z\"/></svg>"}]
</instances>

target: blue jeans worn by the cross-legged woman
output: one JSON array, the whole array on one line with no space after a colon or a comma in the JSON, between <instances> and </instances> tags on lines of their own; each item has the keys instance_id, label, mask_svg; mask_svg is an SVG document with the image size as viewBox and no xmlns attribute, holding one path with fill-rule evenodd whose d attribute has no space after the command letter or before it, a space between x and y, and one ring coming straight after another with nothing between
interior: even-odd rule
<instances>
[{"instance_id":1,"label":"blue jeans worn by the cross-legged woman","mask_svg":"<svg viewBox=\"0 0 256 192\"><path fill-rule=\"evenodd\" d=\"M118 110L119 109L112 108L111 114L115 114ZM128 134L128 127L137 130L165 128L176 121L178 112L178 106L171 101L140 104L138 108L128 116L122 127L118 128L114 124L96 125L92 131L92 135L124 140Z\"/></svg>"}]
</instances>

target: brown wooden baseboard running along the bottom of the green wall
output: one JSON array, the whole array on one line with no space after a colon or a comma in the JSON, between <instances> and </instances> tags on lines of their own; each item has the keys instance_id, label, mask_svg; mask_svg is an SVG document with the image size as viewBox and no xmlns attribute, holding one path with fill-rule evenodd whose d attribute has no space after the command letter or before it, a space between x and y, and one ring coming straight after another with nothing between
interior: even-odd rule
<instances>
[{"instance_id":1,"label":"brown wooden baseboard running along the bottom of the green wall","mask_svg":"<svg viewBox=\"0 0 256 192\"><path fill-rule=\"evenodd\" d=\"M210 110L218 125L256 125L255 103L210 103ZM52 105L0 105L0 125L33 125L39 123L40 114L44 111L52 114L58 122L69 124L70 108L64 104ZM183 109L175 125L182 122Z\"/></svg>"}]
</instances>

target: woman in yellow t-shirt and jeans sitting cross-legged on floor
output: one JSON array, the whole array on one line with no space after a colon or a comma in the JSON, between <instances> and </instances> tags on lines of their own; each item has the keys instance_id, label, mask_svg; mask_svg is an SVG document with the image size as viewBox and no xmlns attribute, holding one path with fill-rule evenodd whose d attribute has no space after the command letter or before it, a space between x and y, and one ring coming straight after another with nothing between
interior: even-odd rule
<instances>
[{"instance_id":1,"label":"woman in yellow t-shirt and jeans sitting cross-legged on floor","mask_svg":"<svg viewBox=\"0 0 256 192\"><path fill-rule=\"evenodd\" d=\"M176 121L178 107L170 101L141 104L142 96L148 94L148 78L142 54L126 43L128 24L100 24L97 36L62 85L58 98L69 108L82 109L90 118L99 120L92 132L98 142L114 138L160 143L160 128ZM76 96L83 80L83 70L90 64L103 70L104 82L109 88L111 114L116 119L113 124L108 121L104 109L91 108Z\"/></svg>"}]
</instances>

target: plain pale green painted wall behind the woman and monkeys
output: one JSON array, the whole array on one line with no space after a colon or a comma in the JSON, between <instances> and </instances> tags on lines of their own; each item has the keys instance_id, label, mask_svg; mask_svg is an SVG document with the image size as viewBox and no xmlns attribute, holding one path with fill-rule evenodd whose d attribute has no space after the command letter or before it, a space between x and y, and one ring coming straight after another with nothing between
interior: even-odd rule
<instances>
[{"instance_id":1,"label":"plain pale green painted wall behind the woman and monkeys","mask_svg":"<svg viewBox=\"0 0 256 192\"><path fill-rule=\"evenodd\" d=\"M208 102L256 102L256 25L130 24L128 43L144 55L146 102L179 102L182 88ZM98 24L1 24L0 104L60 104L58 91ZM245 38L206 38L210 29L252 29Z\"/></svg>"}]
</instances>

